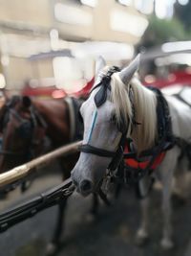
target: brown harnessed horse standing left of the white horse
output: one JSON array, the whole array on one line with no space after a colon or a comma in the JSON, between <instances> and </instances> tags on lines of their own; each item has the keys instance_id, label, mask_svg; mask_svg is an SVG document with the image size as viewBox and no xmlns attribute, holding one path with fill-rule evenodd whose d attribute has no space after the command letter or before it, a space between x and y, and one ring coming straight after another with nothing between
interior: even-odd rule
<instances>
[{"instance_id":1,"label":"brown harnessed horse standing left of the white horse","mask_svg":"<svg viewBox=\"0 0 191 256\"><path fill-rule=\"evenodd\" d=\"M70 101L74 99L70 98ZM79 132L74 130L70 117L70 101L67 100L33 100L29 97L13 96L0 109L0 132L3 137L0 151L0 173L23 164L47 151L47 140L52 149L76 140ZM75 99L75 113L81 100ZM75 128L76 128L75 123ZM79 128L79 126L78 126ZM78 131L78 130L76 130ZM78 137L77 137L78 136ZM79 139L79 138L78 138ZM77 160L77 153L58 160L63 170L63 179L70 176L70 171ZM94 197L95 198L95 197ZM94 199L92 213L96 213L97 198ZM63 213L66 200L59 204L59 213L53 235L53 244L58 244L63 225Z\"/></svg>"}]
</instances>

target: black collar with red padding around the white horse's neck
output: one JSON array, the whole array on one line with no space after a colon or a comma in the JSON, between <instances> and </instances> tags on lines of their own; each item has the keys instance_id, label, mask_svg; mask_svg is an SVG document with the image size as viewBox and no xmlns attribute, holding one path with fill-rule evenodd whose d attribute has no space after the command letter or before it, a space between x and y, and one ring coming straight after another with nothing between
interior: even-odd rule
<instances>
[{"instance_id":1,"label":"black collar with red padding around the white horse's neck","mask_svg":"<svg viewBox=\"0 0 191 256\"><path fill-rule=\"evenodd\" d=\"M132 182L137 182L144 175L151 174L161 163L165 152L172 149L175 145L175 137L172 132L171 117L168 105L157 88L150 88L157 94L157 116L158 116L158 141L155 147L142 151L139 155L133 149L132 140L127 139L124 152L126 169L133 170L134 175ZM128 172L128 171L127 171Z\"/></svg>"}]
</instances>

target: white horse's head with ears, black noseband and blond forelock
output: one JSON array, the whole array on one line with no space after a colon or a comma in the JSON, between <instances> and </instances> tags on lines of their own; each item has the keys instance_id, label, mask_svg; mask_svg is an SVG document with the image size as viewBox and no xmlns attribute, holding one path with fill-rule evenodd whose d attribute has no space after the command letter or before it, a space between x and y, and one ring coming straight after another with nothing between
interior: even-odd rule
<instances>
[{"instance_id":1,"label":"white horse's head with ears, black noseband and blond forelock","mask_svg":"<svg viewBox=\"0 0 191 256\"><path fill-rule=\"evenodd\" d=\"M96 83L80 108L83 144L72 172L74 184L83 196L96 191L107 168L114 164L123 138L131 133L134 110L129 82L138 63L139 57L119 71L105 67L102 58L96 62Z\"/></svg>"}]
</instances>

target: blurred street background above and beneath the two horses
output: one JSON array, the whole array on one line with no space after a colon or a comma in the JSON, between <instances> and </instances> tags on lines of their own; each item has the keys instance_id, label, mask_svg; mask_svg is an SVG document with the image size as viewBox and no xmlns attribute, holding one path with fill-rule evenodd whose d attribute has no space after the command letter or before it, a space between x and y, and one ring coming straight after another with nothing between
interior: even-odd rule
<instances>
[{"instance_id":1,"label":"blurred street background above and beneath the two horses","mask_svg":"<svg viewBox=\"0 0 191 256\"><path fill-rule=\"evenodd\" d=\"M99 55L108 64L122 67L139 52L139 76L144 84L159 88L190 85L191 1L0 0L0 90L8 96L78 96L92 86ZM47 169L50 172L36 179L22 197L17 189L2 199L0 209L59 184L61 172L56 163ZM159 250L158 193L152 202L153 242L144 249L134 244L139 221L134 193L128 198L122 195L116 208L102 207L94 223L84 218L90 198L74 195L67 209L64 248L55 255L190 256L190 204L178 209L173 220L178 249L167 254ZM56 218L53 207L1 234L0 255L46 255Z\"/></svg>"}]
</instances>

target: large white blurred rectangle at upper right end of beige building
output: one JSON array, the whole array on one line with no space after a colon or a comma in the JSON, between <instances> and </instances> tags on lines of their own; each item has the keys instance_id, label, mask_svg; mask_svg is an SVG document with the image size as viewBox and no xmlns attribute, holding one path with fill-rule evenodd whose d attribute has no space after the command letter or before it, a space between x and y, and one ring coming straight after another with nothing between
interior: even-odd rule
<instances>
[{"instance_id":1,"label":"large white blurred rectangle at upper right end of beige building","mask_svg":"<svg viewBox=\"0 0 191 256\"><path fill-rule=\"evenodd\" d=\"M114 10L110 14L111 28L115 31L129 33L135 36L143 35L148 26L148 20L128 12Z\"/></svg>"}]
</instances>

